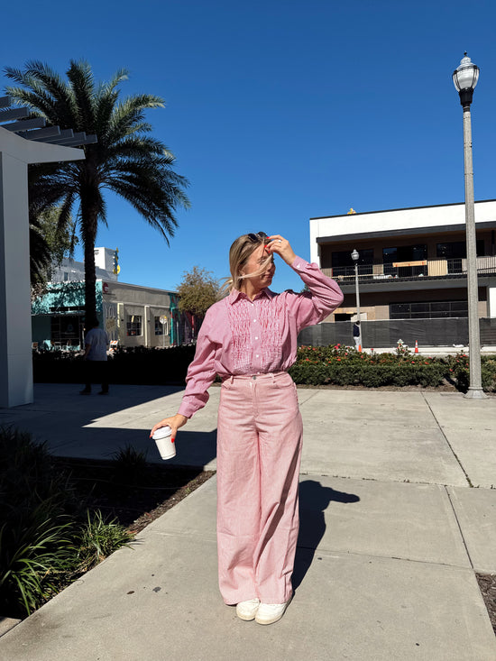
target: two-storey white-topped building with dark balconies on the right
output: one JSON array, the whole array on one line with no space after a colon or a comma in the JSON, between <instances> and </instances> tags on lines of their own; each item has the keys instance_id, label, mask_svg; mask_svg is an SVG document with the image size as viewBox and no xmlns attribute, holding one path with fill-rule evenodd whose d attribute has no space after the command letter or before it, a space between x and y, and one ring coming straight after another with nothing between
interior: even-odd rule
<instances>
[{"instance_id":1,"label":"two-storey white-topped building with dark balconies on the right","mask_svg":"<svg viewBox=\"0 0 496 661\"><path fill-rule=\"evenodd\" d=\"M428 344L466 344L464 204L324 216L309 224L312 262L344 292L342 306L326 319L348 322L343 333L335 329L337 341L348 339L356 318L356 250L361 320L371 333L366 346L389 346L408 335L410 343L422 337ZM475 203L475 225L481 339L496 344L496 200ZM377 337L380 327L393 328L391 337L385 331Z\"/></svg>"}]
</instances>

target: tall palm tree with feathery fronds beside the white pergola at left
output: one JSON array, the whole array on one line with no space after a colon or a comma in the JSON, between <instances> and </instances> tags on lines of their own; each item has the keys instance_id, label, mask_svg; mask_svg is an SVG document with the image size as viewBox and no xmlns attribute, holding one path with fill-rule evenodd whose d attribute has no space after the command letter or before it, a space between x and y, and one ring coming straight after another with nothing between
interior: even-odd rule
<instances>
[{"instance_id":1,"label":"tall palm tree with feathery fronds beside the white pergola at left","mask_svg":"<svg viewBox=\"0 0 496 661\"><path fill-rule=\"evenodd\" d=\"M86 159L68 163L30 166L30 216L39 216L59 206L59 226L76 215L85 255L85 314L96 316L95 242L98 223L106 224L104 190L124 197L166 242L174 235L178 207L189 207L184 188L188 180L172 165L174 155L147 133L144 121L148 108L163 107L159 96L142 94L119 99L119 85L127 78L122 69L107 83L96 85L91 67L85 61L70 61L67 80L39 61L24 69L5 69L22 87L7 87L17 104L29 106L32 116L44 117L47 124L96 133L98 142L85 145Z\"/></svg>"}]
</instances>

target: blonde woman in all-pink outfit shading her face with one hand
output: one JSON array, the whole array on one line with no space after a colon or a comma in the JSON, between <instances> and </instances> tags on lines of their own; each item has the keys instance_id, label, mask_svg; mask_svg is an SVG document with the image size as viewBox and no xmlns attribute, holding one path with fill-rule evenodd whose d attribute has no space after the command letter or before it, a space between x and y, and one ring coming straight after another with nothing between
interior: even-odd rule
<instances>
[{"instance_id":1,"label":"blonde woman in all-pink outfit shading her face with one hand","mask_svg":"<svg viewBox=\"0 0 496 661\"><path fill-rule=\"evenodd\" d=\"M308 291L268 289L274 253ZM161 420L172 438L207 403L222 378L217 425L219 587L242 620L280 620L292 597L299 532L302 425L296 387L286 372L297 336L343 300L334 280L297 257L280 234L243 234L229 252L230 293L207 310L189 365L179 412Z\"/></svg>"}]
</instances>

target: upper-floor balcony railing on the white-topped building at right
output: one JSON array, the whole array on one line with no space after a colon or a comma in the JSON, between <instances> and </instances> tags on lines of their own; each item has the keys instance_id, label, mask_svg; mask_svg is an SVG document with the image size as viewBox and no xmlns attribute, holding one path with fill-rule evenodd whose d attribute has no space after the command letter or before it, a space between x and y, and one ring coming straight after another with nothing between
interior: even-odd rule
<instances>
[{"instance_id":1,"label":"upper-floor balcony railing on the white-topped building at right","mask_svg":"<svg viewBox=\"0 0 496 661\"><path fill-rule=\"evenodd\" d=\"M335 266L322 269L326 275L338 282L354 280L354 266ZM463 278L467 272L465 258L450 260L418 260L412 262L373 262L358 264L358 279L381 282L381 280L418 280L418 278ZM496 274L496 255L477 257L479 275Z\"/></svg>"}]
</instances>

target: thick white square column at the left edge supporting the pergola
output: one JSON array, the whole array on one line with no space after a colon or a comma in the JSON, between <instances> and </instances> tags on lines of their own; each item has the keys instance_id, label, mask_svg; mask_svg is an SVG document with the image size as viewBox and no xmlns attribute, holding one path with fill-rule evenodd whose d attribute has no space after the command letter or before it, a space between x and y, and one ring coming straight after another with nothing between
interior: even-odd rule
<instances>
[{"instance_id":1,"label":"thick white square column at the left edge supporting the pergola","mask_svg":"<svg viewBox=\"0 0 496 661\"><path fill-rule=\"evenodd\" d=\"M0 151L0 407L32 402L28 179Z\"/></svg>"}]
</instances>

